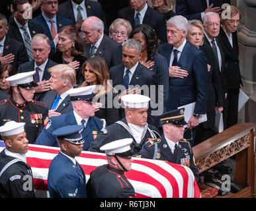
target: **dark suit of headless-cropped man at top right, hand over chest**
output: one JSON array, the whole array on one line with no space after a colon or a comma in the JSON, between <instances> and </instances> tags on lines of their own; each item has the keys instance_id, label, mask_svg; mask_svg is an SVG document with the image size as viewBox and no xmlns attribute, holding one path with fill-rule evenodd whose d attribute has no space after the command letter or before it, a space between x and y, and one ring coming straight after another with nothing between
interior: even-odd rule
<instances>
[{"instance_id":1,"label":"dark suit of headless-cropped man at top right, hand over chest","mask_svg":"<svg viewBox=\"0 0 256 211\"><path fill-rule=\"evenodd\" d=\"M209 6L222 7L222 4L230 4L230 0L209 0ZM201 20L201 13L207 8L206 0L176 0L176 15L185 16L188 20Z\"/></svg>"}]
</instances>

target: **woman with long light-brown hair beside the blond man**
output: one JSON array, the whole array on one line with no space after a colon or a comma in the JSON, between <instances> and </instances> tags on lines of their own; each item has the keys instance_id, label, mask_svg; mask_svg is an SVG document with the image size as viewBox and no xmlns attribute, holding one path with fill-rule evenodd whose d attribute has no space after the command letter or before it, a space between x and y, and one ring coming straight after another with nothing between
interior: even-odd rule
<instances>
[{"instance_id":1,"label":"woman with long light-brown hair beside the blond man","mask_svg":"<svg viewBox=\"0 0 256 211\"><path fill-rule=\"evenodd\" d=\"M118 109L116 109L112 103L117 92L108 81L110 78L105 59L99 56L87 59L83 64L82 73L85 81L79 87L97 85L96 100L103 104L103 107L95 113L95 116L100 119L105 119L107 125L118 121ZM111 102L108 102L109 100Z\"/></svg>"}]
</instances>

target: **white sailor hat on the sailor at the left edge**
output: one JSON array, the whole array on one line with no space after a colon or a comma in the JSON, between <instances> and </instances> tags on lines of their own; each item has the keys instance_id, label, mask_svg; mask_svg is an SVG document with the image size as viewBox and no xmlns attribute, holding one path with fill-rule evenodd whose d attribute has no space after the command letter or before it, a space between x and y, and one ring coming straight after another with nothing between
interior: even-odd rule
<instances>
[{"instance_id":1,"label":"white sailor hat on the sailor at the left edge","mask_svg":"<svg viewBox=\"0 0 256 211\"><path fill-rule=\"evenodd\" d=\"M12 136L24 132L25 123L17 123L16 121L7 121L5 125L0 127L1 136Z\"/></svg>"}]
</instances>

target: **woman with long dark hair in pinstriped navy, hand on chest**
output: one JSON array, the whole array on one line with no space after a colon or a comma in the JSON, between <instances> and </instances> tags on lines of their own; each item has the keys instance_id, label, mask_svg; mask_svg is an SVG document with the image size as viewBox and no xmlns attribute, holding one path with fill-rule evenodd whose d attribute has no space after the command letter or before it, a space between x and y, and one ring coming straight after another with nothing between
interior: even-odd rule
<instances>
[{"instance_id":1,"label":"woman with long dark hair in pinstriped navy, hand on chest","mask_svg":"<svg viewBox=\"0 0 256 211\"><path fill-rule=\"evenodd\" d=\"M157 53L159 40L155 30L146 24L140 24L132 30L130 38L140 41L142 44L140 63L148 67L150 71L153 71L158 76L159 85L163 86L163 106L165 111L165 104L169 94L169 65L165 57Z\"/></svg>"}]
</instances>

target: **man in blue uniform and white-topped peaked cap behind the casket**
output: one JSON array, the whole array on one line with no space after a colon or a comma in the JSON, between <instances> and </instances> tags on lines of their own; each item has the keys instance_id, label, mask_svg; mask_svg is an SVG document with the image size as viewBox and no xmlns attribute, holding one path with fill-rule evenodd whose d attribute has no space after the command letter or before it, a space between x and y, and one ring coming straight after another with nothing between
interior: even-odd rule
<instances>
[{"instance_id":1,"label":"man in blue uniform and white-topped peaked cap behind the casket","mask_svg":"<svg viewBox=\"0 0 256 211\"><path fill-rule=\"evenodd\" d=\"M36 139L36 144L58 146L58 142L52 134L53 131L67 125L83 125L82 136L85 140L83 150L88 150L90 143L97 137L98 131L103 129L103 121L94 116L95 111L97 111L92 102L95 97L95 87L93 85L68 90L66 94L70 97L73 110L63 115L51 117Z\"/></svg>"}]
</instances>

